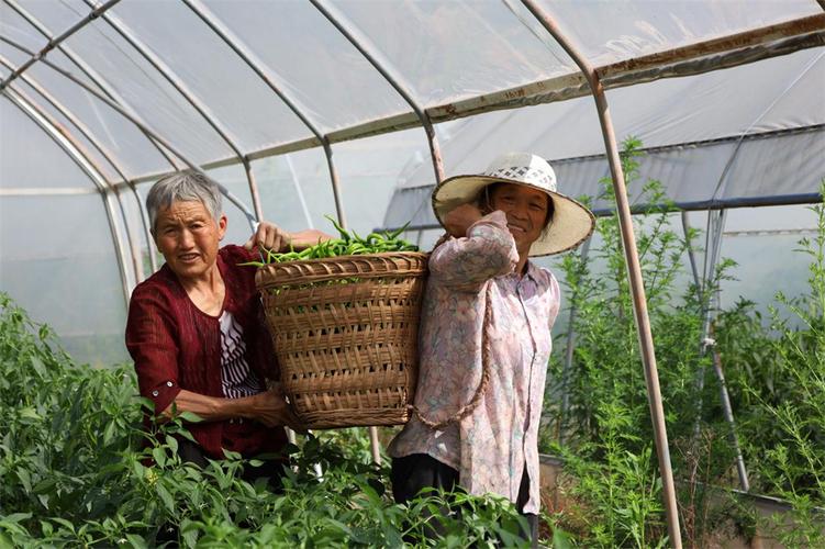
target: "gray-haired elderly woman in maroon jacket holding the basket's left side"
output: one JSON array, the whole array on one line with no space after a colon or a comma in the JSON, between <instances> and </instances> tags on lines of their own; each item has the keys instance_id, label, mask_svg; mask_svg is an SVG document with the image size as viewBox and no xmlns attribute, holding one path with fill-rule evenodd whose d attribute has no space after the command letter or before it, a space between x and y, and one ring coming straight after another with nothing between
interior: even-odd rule
<instances>
[{"instance_id":1,"label":"gray-haired elderly woman in maroon jacket holding the basket's left side","mask_svg":"<svg viewBox=\"0 0 825 549\"><path fill-rule=\"evenodd\" d=\"M141 395L169 418L192 412L197 444L180 440L185 461L223 459L223 449L252 457L277 452L285 426L300 428L278 386L277 365L255 288L255 269L238 264L255 246L283 250L330 238L317 231L288 233L261 223L243 246L220 247L226 215L218 186L196 172L157 181L146 199L152 235L166 265L132 293L126 347ZM280 466L247 471L280 477Z\"/></svg>"}]
</instances>

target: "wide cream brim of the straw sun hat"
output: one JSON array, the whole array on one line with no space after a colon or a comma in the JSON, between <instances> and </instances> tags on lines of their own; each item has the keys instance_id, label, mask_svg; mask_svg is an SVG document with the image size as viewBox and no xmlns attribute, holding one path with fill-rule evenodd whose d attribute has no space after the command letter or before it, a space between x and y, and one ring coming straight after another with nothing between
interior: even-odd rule
<instances>
[{"instance_id":1,"label":"wide cream brim of the straw sun hat","mask_svg":"<svg viewBox=\"0 0 825 549\"><path fill-rule=\"evenodd\" d=\"M553 221L529 248L531 257L561 254L579 246L595 228L595 217L582 203L559 192L514 179L490 176L454 176L433 191L433 212L444 226L444 215L456 206L476 200L481 189L491 183L513 183L546 193L553 200Z\"/></svg>"}]
</instances>

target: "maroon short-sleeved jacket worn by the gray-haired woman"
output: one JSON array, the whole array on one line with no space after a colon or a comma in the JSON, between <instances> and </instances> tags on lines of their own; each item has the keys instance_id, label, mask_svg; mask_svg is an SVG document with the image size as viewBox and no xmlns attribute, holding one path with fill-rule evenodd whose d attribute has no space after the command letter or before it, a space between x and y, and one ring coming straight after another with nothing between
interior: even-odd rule
<instances>
[{"instance_id":1,"label":"maroon short-sleeved jacket worn by the gray-haired woman","mask_svg":"<svg viewBox=\"0 0 825 549\"><path fill-rule=\"evenodd\" d=\"M277 379L275 352L255 289L255 268L237 265L250 259L254 256L239 246L219 251L218 268L226 285L223 310L243 328L246 360L258 379ZM219 317L194 306L168 265L132 292L126 348L135 362L141 395L154 401L156 414L166 410L181 389L223 397ZM214 459L223 459L222 447L254 456L278 451L287 442L282 427L248 421L241 428L233 424L202 422L188 427Z\"/></svg>"}]
</instances>

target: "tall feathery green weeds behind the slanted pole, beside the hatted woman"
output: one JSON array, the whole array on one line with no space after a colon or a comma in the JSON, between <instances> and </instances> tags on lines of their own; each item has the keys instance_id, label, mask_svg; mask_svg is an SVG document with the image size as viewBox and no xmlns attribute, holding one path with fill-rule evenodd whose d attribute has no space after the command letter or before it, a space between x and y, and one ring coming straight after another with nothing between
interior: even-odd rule
<instances>
[{"instance_id":1,"label":"tall feathery green weeds behind the slanted pole, beside the hatted woman","mask_svg":"<svg viewBox=\"0 0 825 549\"><path fill-rule=\"evenodd\" d=\"M623 145L625 182L631 190L638 190L637 205L645 205L644 213L634 216L634 228L668 436L679 450L671 453L675 474L679 477L689 468L702 473L701 478L683 475L688 482L680 484L684 488L679 494L682 523L691 525L688 545L701 546L712 520L701 509L707 494L698 486L717 480L733 463L725 437L709 435L726 428L715 404L718 386L712 378L698 382L711 371L710 356L700 347L703 312L729 264L722 264L703 291L683 282L685 254L696 233L685 238L673 228L675 208L659 181L640 181L642 144L628 138ZM601 183L603 195L613 201L611 180L605 178ZM561 408L562 399L547 399L544 440L549 442L546 449L566 458L573 477L572 493L582 504L578 512L582 516L561 525L571 530L578 525L579 541L584 546L667 545L657 460L651 459L654 433L645 373L617 216L599 219L595 231L601 244L591 248L588 258L570 254L562 260L569 309L576 310L571 369L565 374L564 354L554 355L550 361L550 379L557 384L548 392L566 392L569 407ZM565 382L566 386L559 386ZM553 444L553 434L561 434L564 445Z\"/></svg>"}]
</instances>

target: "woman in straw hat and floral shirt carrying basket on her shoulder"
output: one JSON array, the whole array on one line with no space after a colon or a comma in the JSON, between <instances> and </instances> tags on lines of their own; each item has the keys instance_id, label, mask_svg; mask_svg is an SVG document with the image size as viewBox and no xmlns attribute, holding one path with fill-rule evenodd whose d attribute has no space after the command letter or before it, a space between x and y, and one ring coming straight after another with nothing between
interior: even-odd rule
<instances>
[{"instance_id":1,"label":"woman in straw hat and floral shirt carrying basket on her shoulder","mask_svg":"<svg viewBox=\"0 0 825 549\"><path fill-rule=\"evenodd\" d=\"M594 217L556 192L547 161L523 153L444 180L433 209L448 235L430 258L415 413L389 448L393 495L500 494L525 515L535 545L538 424L560 294L527 258L575 248Z\"/></svg>"}]
</instances>

